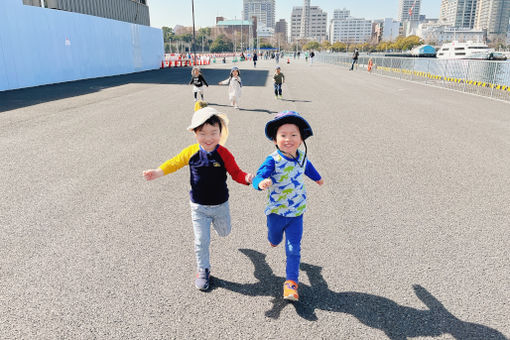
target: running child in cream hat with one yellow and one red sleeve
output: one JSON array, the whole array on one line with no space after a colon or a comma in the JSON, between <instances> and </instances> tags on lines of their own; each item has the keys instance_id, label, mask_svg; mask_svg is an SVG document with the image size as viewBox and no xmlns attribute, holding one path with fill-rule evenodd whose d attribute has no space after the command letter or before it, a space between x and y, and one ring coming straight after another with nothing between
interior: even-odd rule
<instances>
[{"instance_id":1,"label":"running child in cream hat with one yellow and one red sleeve","mask_svg":"<svg viewBox=\"0 0 510 340\"><path fill-rule=\"evenodd\" d=\"M143 172L145 179L150 181L189 166L191 219L198 267L195 286L203 291L209 288L210 280L211 224L221 237L230 234L231 230L227 172L241 184L249 185L253 180L253 175L243 172L234 156L223 146L228 136L227 124L227 117L214 108L196 111L188 130L195 134L197 144L188 146L158 169Z\"/></svg>"}]
</instances>

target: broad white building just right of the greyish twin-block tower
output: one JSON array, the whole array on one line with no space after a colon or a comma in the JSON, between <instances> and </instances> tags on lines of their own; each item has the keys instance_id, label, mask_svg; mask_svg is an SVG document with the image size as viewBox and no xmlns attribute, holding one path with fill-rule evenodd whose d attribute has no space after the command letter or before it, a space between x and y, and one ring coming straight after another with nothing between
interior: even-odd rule
<instances>
[{"instance_id":1,"label":"broad white building just right of the greyish twin-block tower","mask_svg":"<svg viewBox=\"0 0 510 340\"><path fill-rule=\"evenodd\" d=\"M347 17L331 20L329 28L330 42L362 44L372 39L372 21L364 18Z\"/></svg>"}]
</instances>

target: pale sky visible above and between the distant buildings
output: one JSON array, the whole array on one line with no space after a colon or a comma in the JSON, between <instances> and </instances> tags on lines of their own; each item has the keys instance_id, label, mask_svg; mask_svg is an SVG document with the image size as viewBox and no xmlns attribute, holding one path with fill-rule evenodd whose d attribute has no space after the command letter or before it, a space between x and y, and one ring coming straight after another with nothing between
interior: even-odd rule
<instances>
[{"instance_id":1,"label":"pale sky visible above and between the distant buildings","mask_svg":"<svg viewBox=\"0 0 510 340\"><path fill-rule=\"evenodd\" d=\"M243 0L194 0L195 25L214 26L217 16L240 19ZM191 0L148 0L151 26L191 26ZM276 0L275 20L285 19L290 25L292 7L302 6L302 0ZM312 0L312 6L319 6L328 13L328 21L335 9L347 8L351 16L365 19L397 19L398 0ZM441 0L421 0L420 14L429 18L439 17ZM290 29L290 27L289 27Z\"/></svg>"}]
</instances>

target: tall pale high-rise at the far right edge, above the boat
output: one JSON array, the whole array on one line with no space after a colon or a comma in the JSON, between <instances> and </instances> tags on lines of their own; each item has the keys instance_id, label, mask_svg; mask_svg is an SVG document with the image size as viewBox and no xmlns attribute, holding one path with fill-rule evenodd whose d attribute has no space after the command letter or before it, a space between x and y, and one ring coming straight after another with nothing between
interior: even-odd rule
<instances>
[{"instance_id":1,"label":"tall pale high-rise at the far right edge, above the boat","mask_svg":"<svg viewBox=\"0 0 510 340\"><path fill-rule=\"evenodd\" d=\"M475 27L487 30L489 40L504 40L510 18L510 1L478 0Z\"/></svg>"}]
</instances>

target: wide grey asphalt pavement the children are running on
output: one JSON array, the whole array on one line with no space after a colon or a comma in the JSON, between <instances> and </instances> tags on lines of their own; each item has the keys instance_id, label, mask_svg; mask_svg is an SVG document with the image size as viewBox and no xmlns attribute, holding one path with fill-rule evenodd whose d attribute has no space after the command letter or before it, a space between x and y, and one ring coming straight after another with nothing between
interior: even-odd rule
<instances>
[{"instance_id":1,"label":"wide grey asphalt pavement the children are running on","mask_svg":"<svg viewBox=\"0 0 510 340\"><path fill-rule=\"evenodd\" d=\"M193 286L189 174L156 167L194 141L189 69L0 93L0 338L505 339L510 336L506 103L331 65L204 70L256 171L272 114L311 123L301 301L265 194L229 180L233 231L212 240L213 286Z\"/></svg>"}]
</instances>

